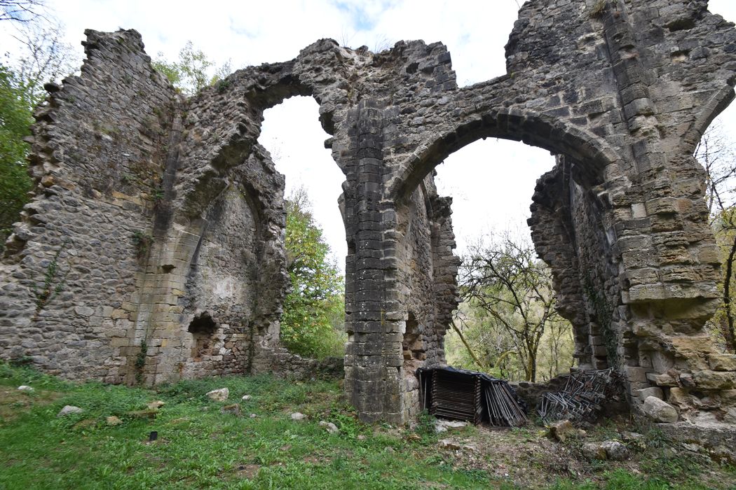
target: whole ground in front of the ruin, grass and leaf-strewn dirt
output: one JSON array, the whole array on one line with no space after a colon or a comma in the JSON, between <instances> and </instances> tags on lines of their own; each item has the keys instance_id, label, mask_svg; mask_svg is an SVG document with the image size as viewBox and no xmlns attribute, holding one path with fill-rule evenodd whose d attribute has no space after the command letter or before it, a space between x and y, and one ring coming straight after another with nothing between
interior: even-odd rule
<instances>
[{"instance_id":1,"label":"whole ground in front of the ruin, grass and leaf-strewn dirt","mask_svg":"<svg viewBox=\"0 0 736 490\"><path fill-rule=\"evenodd\" d=\"M18 392L21 384L35 391ZM205 396L224 386L228 402ZM165 405L152 413L155 400ZM222 414L228 403L241 415ZM57 417L65 405L85 411ZM295 411L308 419L291 420ZM107 425L113 415L123 423ZM631 461L591 464L578 456L580 441L559 444L535 426L442 436L432 428L429 417L413 429L361 424L337 383L324 381L230 377L149 390L65 383L0 363L0 489L736 488L733 469L656 433ZM617 430L609 424L586 440Z\"/></svg>"}]
</instances>

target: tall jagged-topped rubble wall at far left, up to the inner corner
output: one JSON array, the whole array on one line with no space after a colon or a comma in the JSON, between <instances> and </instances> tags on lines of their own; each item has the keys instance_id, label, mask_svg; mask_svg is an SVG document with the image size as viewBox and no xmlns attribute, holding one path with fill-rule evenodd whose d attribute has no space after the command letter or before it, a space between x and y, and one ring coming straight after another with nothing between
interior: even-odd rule
<instances>
[{"instance_id":1,"label":"tall jagged-topped rubble wall at far left, up to the inner corner","mask_svg":"<svg viewBox=\"0 0 736 490\"><path fill-rule=\"evenodd\" d=\"M87 60L36 114L35 198L7 244L0 356L122 381L144 233L176 93L137 33L88 32Z\"/></svg>"}]
</instances>

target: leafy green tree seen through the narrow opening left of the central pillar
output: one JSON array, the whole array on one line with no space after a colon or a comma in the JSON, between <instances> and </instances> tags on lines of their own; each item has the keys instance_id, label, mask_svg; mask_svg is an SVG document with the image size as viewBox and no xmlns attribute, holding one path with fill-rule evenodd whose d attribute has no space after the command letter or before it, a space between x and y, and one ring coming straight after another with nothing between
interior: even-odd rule
<instances>
[{"instance_id":1,"label":"leafy green tree seen through the narrow opening left of the central pillar","mask_svg":"<svg viewBox=\"0 0 736 490\"><path fill-rule=\"evenodd\" d=\"M330 261L303 188L286 201L286 262L291 291L283 305L281 342L303 356L342 356L344 280Z\"/></svg>"}]
</instances>

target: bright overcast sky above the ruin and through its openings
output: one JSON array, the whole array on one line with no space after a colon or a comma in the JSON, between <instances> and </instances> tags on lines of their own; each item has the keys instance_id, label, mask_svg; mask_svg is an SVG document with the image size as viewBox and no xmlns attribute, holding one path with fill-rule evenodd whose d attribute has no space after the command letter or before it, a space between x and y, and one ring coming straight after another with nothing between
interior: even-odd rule
<instances>
[{"instance_id":1,"label":"bright overcast sky above the ruin and through its openings","mask_svg":"<svg viewBox=\"0 0 736 490\"><path fill-rule=\"evenodd\" d=\"M271 0L156 1L47 0L79 48L85 29L141 32L152 57L176 60L188 40L211 60L230 60L233 70L262 62L291 60L322 37L344 46L389 48L398 40L442 41L463 86L505 71L503 46L523 0ZM711 0L711 12L736 20L736 1ZM0 25L0 43L7 44ZM9 48L0 48L7 51ZM12 48L11 48L12 49ZM736 109L726 111L729 117ZM344 264L347 251L337 208L342 172L325 150L329 136L319 126L311 98L291 98L266 111L261 143L286 174L287 188L304 185L325 237ZM735 118L736 119L736 118ZM735 127L726 121L729 127ZM518 228L529 214L536 179L553 166L539 148L510 141L478 141L437 168L441 195L452 195L459 252L479 234ZM287 190L288 192L288 190Z\"/></svg>"}]
</instances>

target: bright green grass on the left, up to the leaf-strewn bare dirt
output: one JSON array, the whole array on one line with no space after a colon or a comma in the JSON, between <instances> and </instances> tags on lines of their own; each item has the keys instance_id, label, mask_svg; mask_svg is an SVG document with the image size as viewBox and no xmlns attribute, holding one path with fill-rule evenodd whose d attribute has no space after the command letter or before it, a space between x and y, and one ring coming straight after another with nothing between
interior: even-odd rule
<instances>
[{"instance_id":1,"label":"bright green grass on the left, up to the leaf-strewn bare dirt","mask_svg":"<svg viewBox=\"0 0 736 490\"><path fill-rule=\"evenodd\" d=\"M15 387L29 384L31 394ZM0 364L0 489L410 489L483 488L485 472L427 464L423 450L355 419L337 383L271 377L183 381L158 391L74 384ZM243 415L205 393L227 386ZM49 399L44 393L53 392ZM243 394L251 399L241 401ZM18 405L10 397L24 397ZM153 400L155 419L136 418ZM7 402L10 402L8 404ZM57 418L65 405L83 414ZM308 421L294 422L293 411ZM256 414L257 417L250 417ZM122 425L107 426L115 415ZM339 434L319 427L335 423ZM148 444L152 430L158 442ZM358 436L364 438L358 439Z\"/></svg>"}]
</instances>

